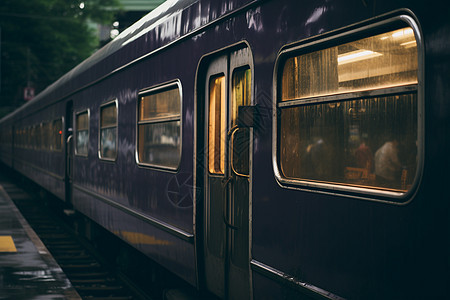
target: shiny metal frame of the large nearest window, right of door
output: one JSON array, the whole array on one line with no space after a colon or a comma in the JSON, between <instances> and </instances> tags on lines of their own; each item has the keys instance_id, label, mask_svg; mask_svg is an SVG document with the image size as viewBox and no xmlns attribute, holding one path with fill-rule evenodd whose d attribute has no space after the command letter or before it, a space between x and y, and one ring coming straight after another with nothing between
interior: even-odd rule
<instances>
[{"instance_id":1,"label":"shiny metal frame of the large nearest window, right of door","mask_svg":"<svg viewBox=\"0 0 450 300\"><path fill-rule=\"evenodd\" d=\"M304 41L286 45L278 54L273 73L273 128L272 128L272 165L274 175L279 185L286 189L309 191L321 194L342 195L362 200L385 202L395 205L405 205L412 199L412 195L417 190L420 183L424 161L424 45L422 32L415 17L400 14L396 16L385 16L377 21L368 21L340 30L323 34L318 37L309 38ZM382 32L396 29L399 25L409 26L413 29L417 42L417 84L404 85L393 88L379 88L342 94L332 94L325 96L312 96L305 99L293 101L281 101L281 82L283 66L287 59L306 53L312 53L321 49L345 44L350 41L375 36ZM280 160L280 116L281 109L295 107L299 104L322 104L335 101L347 101L362 99L363 97L373 98L375 96L396 94L399 92L417 93L417 170L411 188L406 192L386 191L375 187L359 187L345 185L339 182L316 182L311 179L292 179L283 176Z\"/></svg>"}]
</instances>

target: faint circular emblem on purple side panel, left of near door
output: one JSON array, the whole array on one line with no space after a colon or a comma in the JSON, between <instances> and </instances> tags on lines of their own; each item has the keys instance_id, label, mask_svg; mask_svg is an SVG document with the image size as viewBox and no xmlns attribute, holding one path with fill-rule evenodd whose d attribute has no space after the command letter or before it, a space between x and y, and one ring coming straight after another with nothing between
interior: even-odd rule
<instances>
[{"instance_id":1,"label":"faint circular emblem on purple side panel, left of near door","mask_svg":"<svg viewBox=\"0 0 450 300\"><path fill-rule=\"evenodd\" d=\"M189 208L193 205L193 176L189 173L174 175L167 184L167 198L177 208Z\"/></svg>"}]
</instances>

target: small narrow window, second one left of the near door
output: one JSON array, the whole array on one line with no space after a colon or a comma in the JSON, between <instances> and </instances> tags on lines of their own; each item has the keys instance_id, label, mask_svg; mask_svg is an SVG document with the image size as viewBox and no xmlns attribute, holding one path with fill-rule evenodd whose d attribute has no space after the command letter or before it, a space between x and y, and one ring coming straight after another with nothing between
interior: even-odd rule
<instances>
[{"instance_id":1,"label":"small narrow window, second one left of the near door","mask_svg":"<svg viewBox=\"0 0 450 300\"><path fill-rule=\"evenodd\" d=\"M117 158L117 100L100 107L99 157L105 160Z\"/></svg>"}]
</instances>

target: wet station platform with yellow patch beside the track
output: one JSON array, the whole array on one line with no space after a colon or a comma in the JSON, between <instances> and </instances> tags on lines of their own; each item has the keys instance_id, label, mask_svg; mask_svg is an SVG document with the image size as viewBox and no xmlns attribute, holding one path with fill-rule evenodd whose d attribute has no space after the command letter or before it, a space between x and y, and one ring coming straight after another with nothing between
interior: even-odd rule
<instances>
[{"instance_id":1,"label":"wet station platform with yellow patch beside the track","mask_svg":"<svg viewBox=\"0 0 450 300\"><path fill-rule=\"evenodd\" d=\"M1 183L0 299L81 299L4 187Z\"/></svg>"}]
</instances>

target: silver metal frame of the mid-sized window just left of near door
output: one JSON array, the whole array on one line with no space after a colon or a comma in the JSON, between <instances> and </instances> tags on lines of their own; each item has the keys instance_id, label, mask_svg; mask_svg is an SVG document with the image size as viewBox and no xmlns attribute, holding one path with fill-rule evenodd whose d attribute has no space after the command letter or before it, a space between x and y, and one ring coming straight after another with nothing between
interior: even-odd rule
<instances>
[{"instance_id":1,"label":"silver metal frame of the mid-sized window just left of near door","mask_svg":"<svg viewBox=\"0 0 450 300\"><path fill-rule=\"evenodd\" d=\"M164 92L171 87L176 86L178 88L178 92L180 94L180 115L179 118L175 118L173 116L169 117L160 117L155 118L154 121L139 121L139 112L140 112L140 103L141 97L147 94L156 94L158 92ZM176 167L168 167L164 165L157 165L151 163L145 163L139 161L139 125L143 124L157 124L157 123L165 123L170 121L179 121L180 122L180 151L178 156L178 164ZM136 164L140 167L153 168L157 170L165 170L176 172L180 168L181 157L183 155L183 87L181 85L181 81L179 79L171 80L165 83L161 83L149 88L142 89L138 92L137 101L136 101L136 142L135 142L135 160Z\"/></svg>"}]
</instances>

